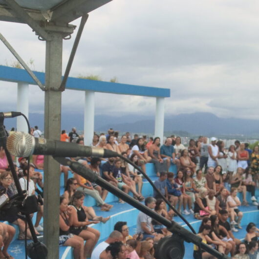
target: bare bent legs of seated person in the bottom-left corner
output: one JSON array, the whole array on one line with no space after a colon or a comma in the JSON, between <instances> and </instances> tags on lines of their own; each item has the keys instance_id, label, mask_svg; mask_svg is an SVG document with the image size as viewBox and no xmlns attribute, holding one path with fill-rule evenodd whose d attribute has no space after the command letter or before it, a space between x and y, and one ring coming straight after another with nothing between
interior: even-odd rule
<instances>
[{"instance_id":1,"label":"bare bent legs of seated person in the bottom-left corner","mask_svg":"<svg viewBox=\"0 0 259 259\"><path fill-rule=\"evenodd\" d=\"M0 258L14 259L7 249L15 235L15 228L11 225L0 222Z\"/></svg>"}]
</instances>

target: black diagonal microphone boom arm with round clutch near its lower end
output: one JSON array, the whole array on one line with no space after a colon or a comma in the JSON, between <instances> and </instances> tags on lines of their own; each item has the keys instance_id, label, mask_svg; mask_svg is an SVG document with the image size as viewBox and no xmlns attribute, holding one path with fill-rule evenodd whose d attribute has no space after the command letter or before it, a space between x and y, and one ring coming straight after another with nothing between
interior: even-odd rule
<instances>
[{"instance_id":1,"label":"black diagonal microphone boom arm with round clutch near its lower end","mask_svg":"<svg viewBox=\"0 0 259 259\"><path fill-rule=\"evenodd\" d=\"M139 201L136 201L134 198L125 194L119 188L114 187L112 184L98 176L96 173L92 172L90 169L86 168L84 165L81 165L78 162L71 161L64 157L54 157L59 163L69 166L71 170L75 173L78 173L85 179L89 180L90 182L95 182L96 184L100 185L101 187L108 190L110 193L116 195L117 197L123 199L139 211L145 213L146 215L150 216L154 220L158 221L159 223L165 225L168 231L173 233L173 237L165 237L162 238L158 243L158 248L160 248L160 252L163 253L163 256L159 258L163 259L171 259L171 258L183 258L184 256L184 246L183 241L188 243L192 242L201 249L205 250L206 252L210 253L212 256L215 256L218 259L228 259L224 254L219 253L209 245L202 242L202 238L194 235L192 232L186 230L181 225L174 221L170 221L165 217L157 214L156 212L152 211L147 206L143 205ZM172 241L178 242L177 247L172 247ZM180 242L180 246L179 246ZM170 246L171 245L171 246ZM183 250L183 251L182 251Z\"/></svg>"}]
</instances>

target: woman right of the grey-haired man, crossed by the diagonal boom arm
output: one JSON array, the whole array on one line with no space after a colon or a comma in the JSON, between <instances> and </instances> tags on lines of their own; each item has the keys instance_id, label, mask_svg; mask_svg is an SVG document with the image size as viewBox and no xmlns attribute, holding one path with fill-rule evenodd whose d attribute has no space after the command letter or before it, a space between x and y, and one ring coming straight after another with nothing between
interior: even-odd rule
<instances>
[{"instance_id":1,"label":"woman right of the grey-haired man, crossed by the diagonal boom arm","mask_svg":"<svg viewBox=\"0 0 259 259\"><path fill-rule=\"evenodd\" d=\"M163 216L169 220L172 219L172 214L171 214L171 216L169 216L169 214L167 213L166 204L165 204L164 200L162 200L162 199L156 200L155 212L157 214L159 214L160 216ZM167 230L166 226L162 225L160 222L152 219L151 223L152 223L154 231L156 233L163 234L165 237L172 235L172 233Z\"/></svg>"}]
</instances>

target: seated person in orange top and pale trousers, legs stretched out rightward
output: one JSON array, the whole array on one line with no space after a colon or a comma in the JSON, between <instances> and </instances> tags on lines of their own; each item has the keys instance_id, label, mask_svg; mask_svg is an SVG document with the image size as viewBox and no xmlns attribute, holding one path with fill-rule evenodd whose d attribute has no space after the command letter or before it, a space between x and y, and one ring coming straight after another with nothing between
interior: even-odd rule
<instances>
[{"instance_id":1,"label":"seated person in orange top and pale trousers, legs stretched out rightward","mask_svg":"<svg viewBox=\"0 0 259 259\"><path fill-rule=\"evenodd\" d=\"M74 177L77 181L77 190L93 197L96 200L97 206L100 206L102 211L109 211L113 207L102 200L99 192L94 190L90 181L77 173L74 174Z\"/></svg>"}]
</instances>

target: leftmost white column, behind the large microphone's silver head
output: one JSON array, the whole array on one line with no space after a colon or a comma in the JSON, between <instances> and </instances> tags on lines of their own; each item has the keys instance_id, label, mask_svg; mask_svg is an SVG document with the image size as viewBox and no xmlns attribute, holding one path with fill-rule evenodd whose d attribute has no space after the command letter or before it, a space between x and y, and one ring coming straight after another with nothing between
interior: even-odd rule
<instances>
[{"instance_id":1,"label":"leftmost white column, behind the large microphone's silver head","mask_svg":"<svg viewBox=\"0 0 259 259\"><path fill-rule=\"evenodd\" d=\"M17 111L29 116L29 85L19 82L17 84ZM28 118L29 119L29 118ZM28 133L28 126L22 116L17 117L17 131Z\"/></svg>"}]
</instances>

